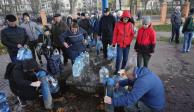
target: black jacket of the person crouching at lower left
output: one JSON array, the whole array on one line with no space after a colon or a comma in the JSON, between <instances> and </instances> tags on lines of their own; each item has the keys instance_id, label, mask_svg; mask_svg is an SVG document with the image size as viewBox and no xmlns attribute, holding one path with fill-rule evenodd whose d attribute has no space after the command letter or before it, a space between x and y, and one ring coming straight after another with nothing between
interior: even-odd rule
<instances>
[{"instance_id":1,"label":"black jacket of the person crouching at lower left","mask_svg":"<svg viewBox=\"0 0 194 112\"><path fill-rule=\"evenodd\" d=\"M25 61L17 62L12 71L12 80L9 80L12 92L22 100L33 100L38 95L36 88L30 86L32 82L38 81L38 79L35 73L26 71L27 69L30 70L31 64Z\"/></svg>"}]
</instances>

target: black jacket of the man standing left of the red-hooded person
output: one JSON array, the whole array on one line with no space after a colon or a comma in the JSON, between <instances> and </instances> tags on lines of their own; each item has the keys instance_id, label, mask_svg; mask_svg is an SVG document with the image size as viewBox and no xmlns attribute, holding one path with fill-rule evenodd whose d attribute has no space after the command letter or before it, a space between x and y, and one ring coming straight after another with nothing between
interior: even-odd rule
<instances>
[{"instance_id":1,"label":"black jacket of the man standing left of the red-hooded person","mask_svg":"<svg viewBox=\"0 0 194 112\"><path fill-rule=\"evenodd\" d=\"M98 35L102 36L102 41L112 42L115 22L115 18L111 14L108 16L102 16L99 22L98 32Z\"/></svg>"}]
</instances>

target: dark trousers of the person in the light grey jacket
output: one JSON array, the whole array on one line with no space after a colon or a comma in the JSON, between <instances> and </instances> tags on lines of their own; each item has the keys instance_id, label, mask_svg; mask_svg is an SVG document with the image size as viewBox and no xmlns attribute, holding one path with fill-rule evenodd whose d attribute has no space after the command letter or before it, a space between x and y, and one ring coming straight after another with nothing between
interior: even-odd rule
<instances>
[{"instance_id":1,"label":"dark trousers of the person in the light grey jacket","mask_svg":"<svg viewBox=\"0 0 194 112\"><path fill-rule=\"evenodd\" d=\"M36 46L37 46L37 40L29 42L29 48L32 51L32 56L33 56L34 59L36 59L36 53L35 53L36 52L36 50L35 50ZM42 62L41 55L37 54L37 57L38 57L39 61Z\"/></svg>"}]
</instances>

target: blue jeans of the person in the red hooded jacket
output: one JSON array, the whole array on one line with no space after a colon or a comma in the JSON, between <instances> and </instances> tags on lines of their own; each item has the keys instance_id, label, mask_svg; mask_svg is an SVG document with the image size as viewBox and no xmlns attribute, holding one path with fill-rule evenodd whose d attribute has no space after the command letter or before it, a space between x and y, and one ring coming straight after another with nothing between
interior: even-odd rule
<instances>
[{"instance_id":1,"label":"blue jeans of the person in the red hooded jacket","mask_svg":"<svg viewBox=\"0 0 194 112\"><path fill-rule=\"evenodd\" d=\"M121 61L122 61L121 69L125 68L128 60L129 49L130 46L126 48L120 48L119 46L117 46L116 72L118 72L118 70L120 69Z\"/></svg>"}]
</instances>

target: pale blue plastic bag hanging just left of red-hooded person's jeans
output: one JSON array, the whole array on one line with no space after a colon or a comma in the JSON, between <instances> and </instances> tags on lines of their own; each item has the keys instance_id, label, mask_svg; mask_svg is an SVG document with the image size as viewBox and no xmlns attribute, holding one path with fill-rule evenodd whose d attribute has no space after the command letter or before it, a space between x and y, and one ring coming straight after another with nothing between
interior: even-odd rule
<instances>
[{"instance_id":1,"label":"pale blue plastic bag hanging just left of red-hooded person's jeans","mask_svg":"<svg viewBox=\"0 0 194 112\"><path fill-rule=\"evenodd\" d=\"M112 59L116 58L116 56L117 56L117 48L113 47L111 45L108 45L108 47L107 47L108 60L112 60Z\"/></svg>"}]
</instances>

